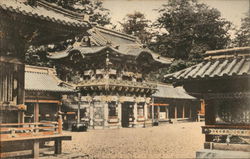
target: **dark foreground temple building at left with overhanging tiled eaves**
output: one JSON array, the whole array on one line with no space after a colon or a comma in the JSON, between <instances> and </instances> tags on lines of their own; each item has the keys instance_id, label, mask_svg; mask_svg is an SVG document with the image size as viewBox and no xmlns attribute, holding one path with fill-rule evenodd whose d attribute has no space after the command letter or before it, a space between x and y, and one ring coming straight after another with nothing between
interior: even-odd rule
<instances>
[{"instance_id":1,"label":"dark foreground temple building at left with overhanging tiled eaves","mask_svg":"<svg viewBox=\"0 0 250 159\"><path fill-rule=\"evenodd\" d=\"M91 27L82 14L43 0L34 3L0 1L0 123L24 120L24 56L28 47L74 39Z\"/></svg>"}]
</instances>

